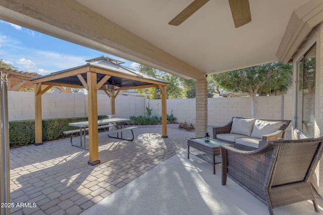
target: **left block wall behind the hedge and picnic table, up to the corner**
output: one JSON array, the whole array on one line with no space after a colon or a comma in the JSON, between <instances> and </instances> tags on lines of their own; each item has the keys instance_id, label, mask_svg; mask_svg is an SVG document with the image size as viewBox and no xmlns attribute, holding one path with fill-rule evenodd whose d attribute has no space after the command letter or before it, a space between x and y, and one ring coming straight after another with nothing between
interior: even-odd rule
<instances>
[{"instance_id":1,"label":"left block wall behind the hedge and picnic table, up to the corner","mask_svg":"<svg viewBox=\"0 0 323 215\"><path fill-rule=\"evenodd\" d=\"M128 118L144 114L144 97L117 96L117 117ZM42 118L66 118L87 116L87 95L83 93L44 93L41 96ZM98 115L110 114L110 98L106 94L97 95ZM9 121L35 118L34 92L8 91Z\"/></svg>"}]
</instances>

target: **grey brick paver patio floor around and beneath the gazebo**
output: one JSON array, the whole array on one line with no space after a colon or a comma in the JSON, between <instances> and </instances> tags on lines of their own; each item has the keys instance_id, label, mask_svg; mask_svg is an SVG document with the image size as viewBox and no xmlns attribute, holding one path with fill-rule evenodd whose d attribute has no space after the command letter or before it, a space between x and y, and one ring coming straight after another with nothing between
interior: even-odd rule
<instances>
[{"instance_id":1,"label":"grey brick paver patio floor around and beneath the gazebo","mask_svg":"<svg viewBox=\"0 0 323 215\"><path fill-rule=\"evenodd\" d=\"M100 164L70 138L10 150L11 214L79 214L187 148L195 134L160 126L139 127L133 141L99 137ZM74 138L73 138L74 139ZM17 207L17 203L24 203ZM29 204L28 204L29 203Z\"/></svg>"}]
</instances>

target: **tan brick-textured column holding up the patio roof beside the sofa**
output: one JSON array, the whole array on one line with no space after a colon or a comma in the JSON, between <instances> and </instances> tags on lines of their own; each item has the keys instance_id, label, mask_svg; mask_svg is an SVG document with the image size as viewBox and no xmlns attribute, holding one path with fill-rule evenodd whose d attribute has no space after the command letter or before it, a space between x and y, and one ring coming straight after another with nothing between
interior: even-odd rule
<instances>
[{"instance_id":1,"label":"tan brick-textured column holding up the patio roof beside the sofa","mask_svg":"<svg viewBox=\"0 0 323 215\"><path fill-rule=\"evenodd\" d=\"M207 131L207 80L196 80L195 136L202 137Z\"/></svg>"}]
</instances>

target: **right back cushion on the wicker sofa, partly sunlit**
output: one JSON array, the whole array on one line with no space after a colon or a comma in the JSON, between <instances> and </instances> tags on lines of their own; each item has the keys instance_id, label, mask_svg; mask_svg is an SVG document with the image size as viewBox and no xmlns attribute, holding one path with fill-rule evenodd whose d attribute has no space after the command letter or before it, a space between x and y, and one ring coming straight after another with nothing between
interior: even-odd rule
<instances>
[{"instance_id":1,"label":"right back cushion on the wicker sofa, partly sunlit","mask_svg":"<svg viewBox=\"0 0 323 215\"><path fill-rule=\"evenodd\" d=\"M271 122L256 119L252 129L251 137L262 138L262 136L265 134L276 132L283 124L284 122L281 121Z\"/></svg>"}]
</instances>

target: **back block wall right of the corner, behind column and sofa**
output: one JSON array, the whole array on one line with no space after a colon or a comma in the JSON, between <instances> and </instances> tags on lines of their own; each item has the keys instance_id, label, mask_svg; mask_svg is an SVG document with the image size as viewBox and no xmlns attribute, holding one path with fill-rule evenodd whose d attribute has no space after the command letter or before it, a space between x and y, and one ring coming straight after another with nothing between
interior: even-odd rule
<instances>
[{"instance_id":1,"label":"back block wall right of the corner, behind column and sofa","mask_svg":"<svg viewBox=\"0 0 323 215\"><path fill-rule=\"evenodd\" d=\"M285 104L286 100L286 104ZM146 100L145 106L152 109L152 115L160 116L160 100ZM292 118L292 95L257 97L257 118ZM208 98L208 125L220 126L228 123L232 117L251 117L250 97ZM173 112L178 122L195 124L195 99L168 99L167 114Z\"/></svg>"}]
</instances>

